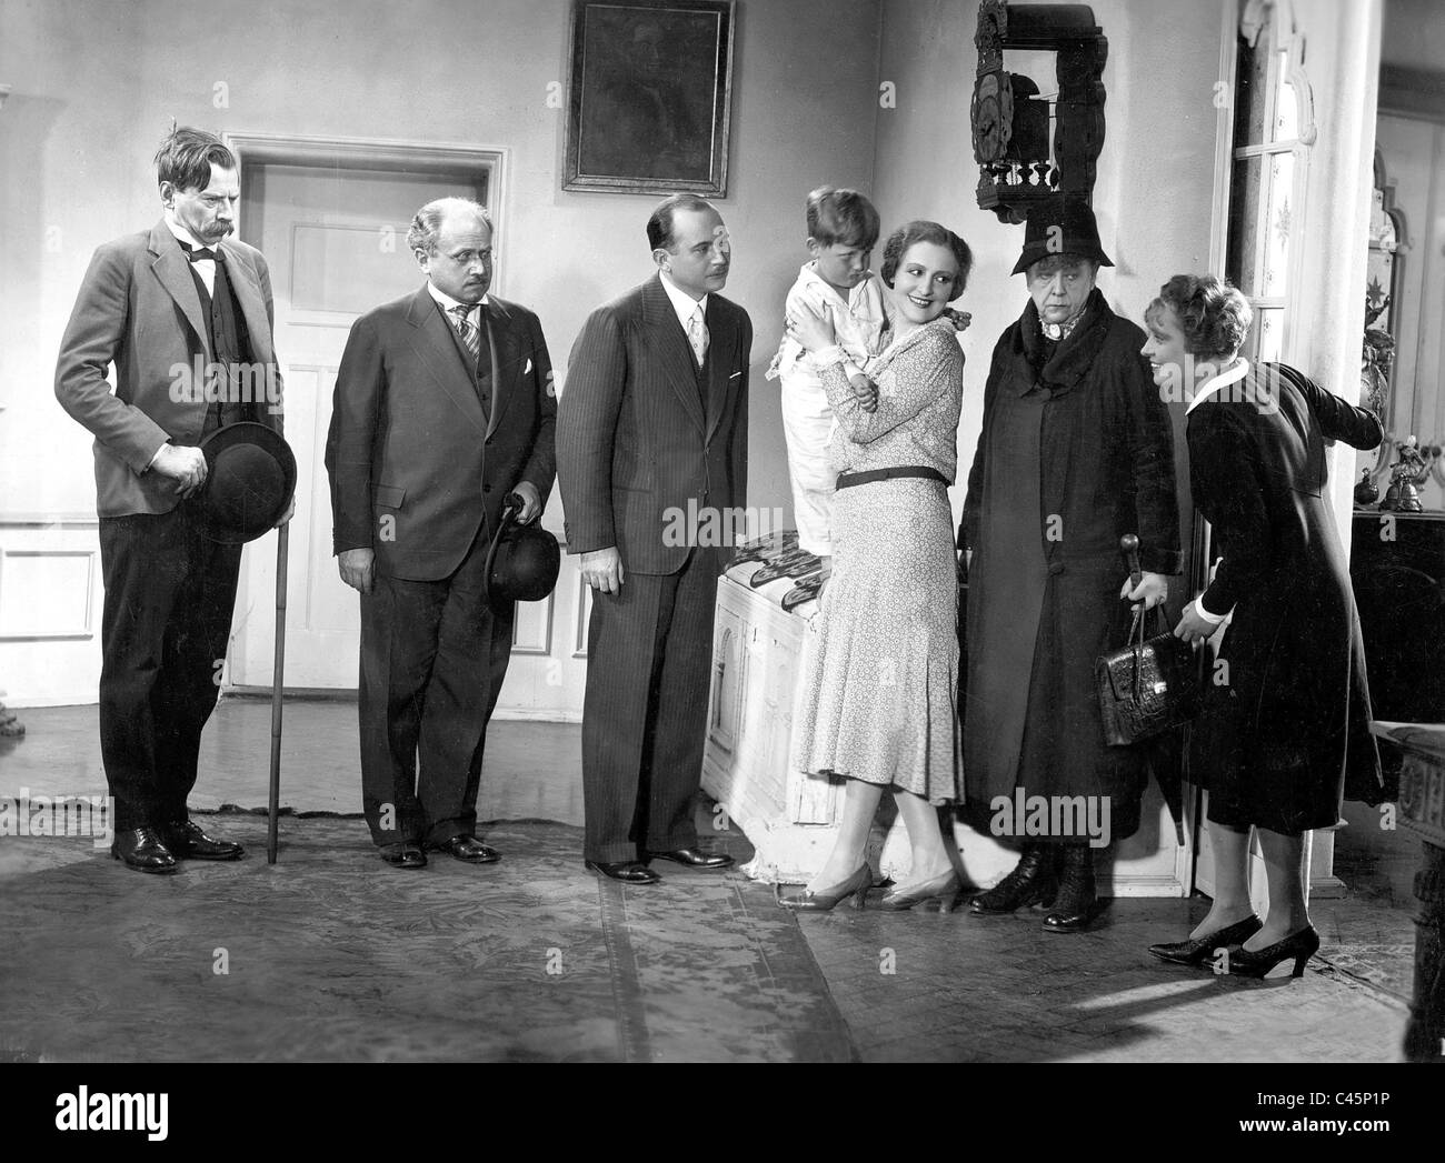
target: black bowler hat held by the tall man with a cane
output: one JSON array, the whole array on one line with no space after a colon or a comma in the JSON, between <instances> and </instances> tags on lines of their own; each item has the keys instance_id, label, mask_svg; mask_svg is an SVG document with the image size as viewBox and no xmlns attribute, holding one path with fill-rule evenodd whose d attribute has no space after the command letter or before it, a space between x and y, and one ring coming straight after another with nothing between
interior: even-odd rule
<instances>
[{"instance_id":1,"label":"black bowler hat held by the tall man with a cane","mask_svg":"<svg viewBox=\"0 0 1445 1163\"><path fill-rule=\"evenodd\" d=\"M191 497L202 535L253 542L280 520L296 491L296 457L273 428L246 420L204 441L205 484Z\"/></svg>"}]
</instances>

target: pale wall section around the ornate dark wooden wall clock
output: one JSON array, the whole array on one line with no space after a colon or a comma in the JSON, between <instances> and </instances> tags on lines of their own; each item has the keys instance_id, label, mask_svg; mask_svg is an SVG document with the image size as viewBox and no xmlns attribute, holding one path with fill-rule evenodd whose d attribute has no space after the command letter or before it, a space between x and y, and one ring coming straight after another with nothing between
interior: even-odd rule
<instances>
[{"instance_id":1,"label":"pale wall section around the ornate dark wooden wall clock","mask_svg":"<svg viewBox=\"0 0 1445 1163\"><path fill-rule=\"evenodd\" d=\"M1140 322L1169 276L1201 272L1209 261L1212 98L1222 9L1199 0L1095 0L1091 7L1108 38L1094 209L1104 250L1116 263L1101 273L1100 289L1116 312ZM978 165L968 104L978 62L977 23L975 0L890 0L879 71L899 92L897 108L884 110L879 120L877 195L884 230L909 218L933 218L962 234L974 251L974 273L957 305L974 316L964 342L959 481L983 423L993 345L1027 302L1023 276L1009 273L1023 248L1023 227L1001 224L991 211L978 209L974 196ZM1006 64L1013 62L1013 53L1006 53ZM1042 91L1053 91L1051 74L1030 75ZM1176 412L1182 426L1182 407ZM1182 436L1176 461L1181 497L1186 497ZM952 490L955 510L962 507L964 491L961 484Z\"/></svg>"}]
</instances>

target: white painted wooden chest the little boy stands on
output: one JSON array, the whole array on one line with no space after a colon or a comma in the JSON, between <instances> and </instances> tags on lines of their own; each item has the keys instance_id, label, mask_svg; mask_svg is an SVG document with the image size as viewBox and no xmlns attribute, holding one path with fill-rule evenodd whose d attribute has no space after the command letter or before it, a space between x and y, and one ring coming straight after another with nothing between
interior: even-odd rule
<instances>
[{"instance_id":1,"label":"white painted wooden chest the little boy stands on","mask_svg":"<svg viewBox=\"0 0 1445 1163\"><path fill-rule=\"evenodd\" d=\"M816 779L793 767L792 738L802 704L815 602L780 607L790 581L753 589L759 563L737 566L718 582L712 640L712 691L702 787L753 842L744 867L767 883L801 884L822 865L837 835L842 780ZM1185 835L1192 836L1192 828ZM964 823L954 839L968 878L988 886L1017 861L1012 848ZM1139 832L1116 845L1113 867L1100 865L1105 896L1188 894L1192 845L1175 842L1169 810L1150 784ZM884 796L868 854L874 870L900 878L909 868L907 835Z\"/></svg>"}]
</instances>

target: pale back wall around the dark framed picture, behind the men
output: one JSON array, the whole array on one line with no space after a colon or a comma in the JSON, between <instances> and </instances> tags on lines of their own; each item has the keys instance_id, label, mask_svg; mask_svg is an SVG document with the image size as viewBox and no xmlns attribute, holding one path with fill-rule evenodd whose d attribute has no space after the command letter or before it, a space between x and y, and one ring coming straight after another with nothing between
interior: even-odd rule
<instances>
[{"instance_id":1,"label":"pale back wall around the dark framed picture, behind the men","mask_svg":"<svg viewBox=\"0 0 1445 1163\"><path fill-rule=\"evenodd\" d=\"M564 113L546 98L566 81L569 0L0 4L0 81L14 87L0 110L0 553L20 516L94 514L91 439L53 399L55 355L94 247L160 215L150 159L172 117L233 133L506 146L499 292L539 312L559 373L587 312L652 270L643 227L656 196L561 191ZM871 186L879 22L880 0L737 7L720 208L734 240L727 293L756 324L754 506L790 509L776 386L762 373L806 257L803 195L824 181ZM3 572L0 558L0 604ZM9 595L19 601L14 585ZM25 605L0 608L0 627ZM42 683L36 649L0 631L13 702L94 699L92 643L58 686L53 673Z\"/></svg>"}]
</instances>

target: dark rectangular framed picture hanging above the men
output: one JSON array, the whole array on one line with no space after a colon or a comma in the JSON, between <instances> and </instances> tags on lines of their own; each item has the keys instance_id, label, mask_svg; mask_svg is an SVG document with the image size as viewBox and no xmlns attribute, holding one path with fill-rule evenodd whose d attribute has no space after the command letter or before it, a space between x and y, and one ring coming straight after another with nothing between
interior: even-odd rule
<instances>
[{"instance_id":1,"label":"dark rectangular framed picture hanging above the men","mask_svg":"<svg viewBox=\"0 0 1445 1163\"><path fill-rule=\"evenodd\" d=\"M562 189L727 194L736 0L574 0Z\"/></svg>"}]
</instances>

